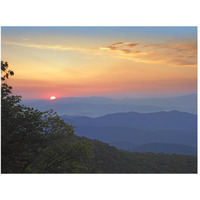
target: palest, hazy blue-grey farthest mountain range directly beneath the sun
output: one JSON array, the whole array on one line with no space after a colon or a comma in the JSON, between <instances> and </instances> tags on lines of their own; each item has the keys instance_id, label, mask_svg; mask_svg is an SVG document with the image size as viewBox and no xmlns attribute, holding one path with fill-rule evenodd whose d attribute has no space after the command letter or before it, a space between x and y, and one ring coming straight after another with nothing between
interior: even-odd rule
<instances>
[{"instance_id":1,"label":"palest, hazy blue-grey farthest mountain range directly beneath the sun","mask_svg":"<svg viewBox=\"0 0 200 200\"><path fill-rule=\"evenodd\" d=\"M197 94L170 98L111 99L106 97L69 97L50 100L22 100L22 104L41 111L53 109L59 115L99 117L119 112L151 113L178 110L197 113Z\"/></svg>"}]
</instances>

